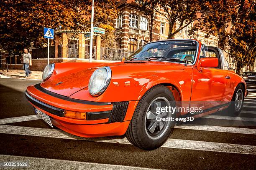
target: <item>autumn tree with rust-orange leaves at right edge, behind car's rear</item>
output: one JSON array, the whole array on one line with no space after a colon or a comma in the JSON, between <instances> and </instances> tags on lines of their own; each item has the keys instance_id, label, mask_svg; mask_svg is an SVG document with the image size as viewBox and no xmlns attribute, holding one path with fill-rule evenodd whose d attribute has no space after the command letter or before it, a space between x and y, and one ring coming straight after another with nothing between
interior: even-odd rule
<instances>
[{"instance_id":1,"label":"autumn tree with rust-orange leaves at right edge, behind car's rear","mask_svg":"<svg viewBox=\"0 0 256 170\"><path fill-rule=\"evenodd\" d=\"M210 34L220 36L219 46L236 60L236 73L256 60L254 0L216 0L205 3L209 13L204 25ZM231 30L225 28L232 24Z\"/></svg>"}]
</instances>

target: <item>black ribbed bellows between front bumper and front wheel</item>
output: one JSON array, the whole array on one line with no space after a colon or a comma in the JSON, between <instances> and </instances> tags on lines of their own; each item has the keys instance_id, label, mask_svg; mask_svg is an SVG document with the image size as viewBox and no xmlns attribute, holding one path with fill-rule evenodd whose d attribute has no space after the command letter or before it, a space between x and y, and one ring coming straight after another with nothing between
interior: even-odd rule
<instances>
[{"instance_id":1,"label":"black ribbed bellows between front bumper and front wheel","mask_svg":"<svg viewBox=\"0 0 256 170\"><path fill-rule=\"evenodd\" d=\"M108 122L123 122L129 102L113 102L112 104L113 110L108 119Z\"/></svg>"}]
</instances>

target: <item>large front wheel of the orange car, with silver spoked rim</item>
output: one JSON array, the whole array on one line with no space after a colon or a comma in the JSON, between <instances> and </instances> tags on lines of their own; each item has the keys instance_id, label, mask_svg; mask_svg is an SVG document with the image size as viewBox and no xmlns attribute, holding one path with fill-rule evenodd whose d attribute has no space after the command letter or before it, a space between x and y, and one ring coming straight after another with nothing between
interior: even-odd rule
<instances>
[{"instance_id":1,"label":"large front wheel of the orange car, with silver spoked rim","mask_svg":"<svg viewBox=\"0 0 256 170\"><path fill-rule=\"evenodd\" d=\"M155 114L155 108L159 107L159 105L160 107L168 105L176 107L172 92L163 85L152 87L141 97L126 131L127 139L138 148L144 150L159 148L166 142L174 129L174 121L158 122L153 118L156 115L163 117L171 116L175 120L175 113L162 112Z\"/></svg>"}]
</instances>

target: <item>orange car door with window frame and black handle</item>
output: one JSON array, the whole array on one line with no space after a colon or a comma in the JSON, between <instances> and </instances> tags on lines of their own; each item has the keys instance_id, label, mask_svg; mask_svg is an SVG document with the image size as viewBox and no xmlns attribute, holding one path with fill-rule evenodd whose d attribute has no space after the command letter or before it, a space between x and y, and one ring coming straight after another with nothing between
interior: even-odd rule
<instances>
[{"instance_id":1,"label":"orange car door with window frame and black handle","mask_svg":"<svg viewBox=\"0 0 256 170\"><path fill-rule=\"evenodd\" d=\"M229 78L223 71L217 47L208 47L208 51L200 57L217 57L219 64L216 68L202 67L202 72L193 68L190 107L203 107L203 110L218 108L224 104Z\"/></svg>"}]
</instances>

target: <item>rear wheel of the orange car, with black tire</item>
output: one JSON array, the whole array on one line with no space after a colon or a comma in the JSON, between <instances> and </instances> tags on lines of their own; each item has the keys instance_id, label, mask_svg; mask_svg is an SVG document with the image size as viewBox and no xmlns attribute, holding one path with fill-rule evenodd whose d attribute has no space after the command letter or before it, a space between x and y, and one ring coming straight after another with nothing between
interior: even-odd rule
<instances>
[{"instance_id":1,"label":"rear wheel of the orange car, with black tire","mask_svg":"<svg viewBox=\"0 0 256 170\"><path fill-rule=\"evenodd\" d=\"M236 90L231 99L230 106L228 107L228 110L231 115L237 116L240 114L243 108L243 101L244 101L244 88L243 88L243 85L239 84L236 87Z\"/></svg>"}]
</instances>

